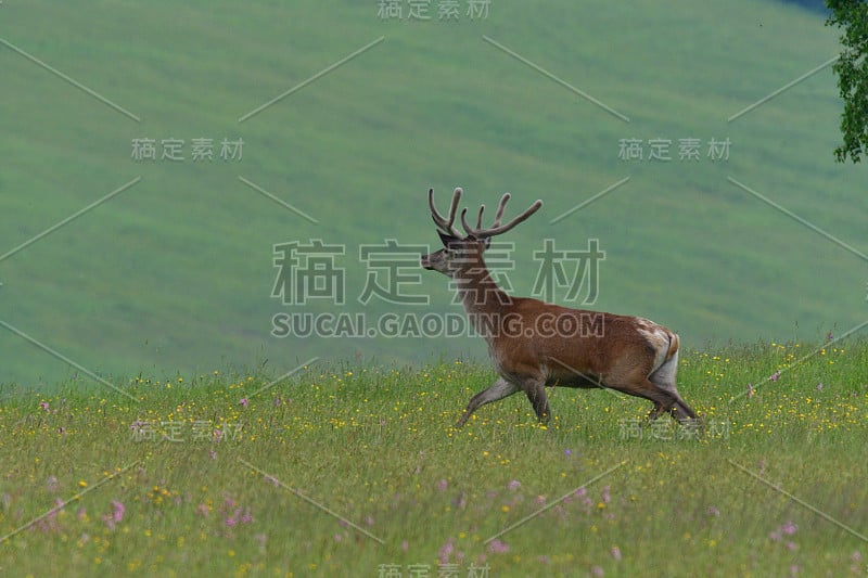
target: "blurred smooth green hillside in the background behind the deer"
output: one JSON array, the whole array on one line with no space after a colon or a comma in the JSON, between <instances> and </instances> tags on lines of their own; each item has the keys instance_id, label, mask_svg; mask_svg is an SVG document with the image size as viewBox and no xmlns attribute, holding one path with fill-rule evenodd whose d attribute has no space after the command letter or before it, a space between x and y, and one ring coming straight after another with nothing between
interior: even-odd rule
<instances>
[{"instance_id":1,"label":"blurred smooth green hillside in the background behind the deer","mask_svg":"<svg viewBox=\"0 0 868 578\"><path fill-rule=\"evenodd\" d=\"M868 317L855 256L728 181L868 252L865 167L838 166L834 78L825 69L727 119L837 53L822 17L776 2L493 2L458 22L378 17L376 2L27 2L0 5L0 255L124 183L141 181L0 260L0 320L104 374L291 369L312 356L478 356L480 339L275 338L272 245L321 239L346 254L346 304L307 312L458 311L434 273L429 307L357 301L359 246L436 242L442 202L513 193L541 213L508 235L515 293L541 239L600 240L595 308L641 313L682 342L815 339ZM405 16L407 7L404 7ZM360 48L346 64L239 118ZM486 38L490 40L486 40ZM493 42L585 91L588 102ZM136 162L132 139L182 139L183 162ZM193 162L193 139L243 139L243 158ZM697 162L625 162L618 141L698 138ZM730 139L728 160L705 156ZM646 155L648 152L646 151ZM239 177L312 217L310 222ZM613 183L629 181L551 221ZM420 273L421 274L421 273ZM295 308L299 309L298 307ZM72 370L0 329L0 381ZM441 354L442 352L442 354Z\"/></svg>"}]
</instances>

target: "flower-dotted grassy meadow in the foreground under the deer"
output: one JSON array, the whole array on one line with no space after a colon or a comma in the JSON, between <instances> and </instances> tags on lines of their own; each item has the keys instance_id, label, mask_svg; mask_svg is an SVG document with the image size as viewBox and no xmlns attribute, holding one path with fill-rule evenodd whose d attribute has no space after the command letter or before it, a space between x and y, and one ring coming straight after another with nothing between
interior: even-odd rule
<instances>
[{"instance_id":1,"label":"flower-dotted grassy meadow in the foreground under the deer","mask_svg":"<svg viewBox=\"0 0 868 578\"><path fill-rule=\"evenodd\" d=\"M867 362L864 341L687 352L698 436L570 389L548 428L514 396L456 431L494 375L448 360L8 386L0 571L864 576Z\"/></svg>"}]
</instances>

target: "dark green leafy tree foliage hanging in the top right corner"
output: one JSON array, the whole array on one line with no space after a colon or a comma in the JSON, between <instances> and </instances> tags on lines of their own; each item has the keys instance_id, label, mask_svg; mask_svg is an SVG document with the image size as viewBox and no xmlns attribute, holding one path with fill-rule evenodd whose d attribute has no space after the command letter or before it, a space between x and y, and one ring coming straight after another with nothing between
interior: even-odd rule
<instances>
[{"instance_id":1,"label":"dark green leafy tree foliage hanging in the top right corner","mask_svg":"<svg viewBox=\"0 0 868 578\"><path fill-rule=\"evenodd\" d=\"M841 114L843 144L834 150L835 159L858 163L868 154L868 1L826 0L831 14L827 26L843 29L841 59L832 66L844 100Z\"/></svg>"}]
</instances>

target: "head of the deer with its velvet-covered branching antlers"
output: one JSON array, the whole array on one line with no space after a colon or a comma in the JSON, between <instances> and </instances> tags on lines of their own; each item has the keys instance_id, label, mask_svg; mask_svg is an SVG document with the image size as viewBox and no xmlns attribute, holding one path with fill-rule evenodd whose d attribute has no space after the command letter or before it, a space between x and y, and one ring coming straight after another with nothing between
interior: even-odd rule
<instances>
[{"instance_id":1,"label":"head of the deer with its velvet-covered branching antlers","mask_svg":"<svg viewBox=\"0 0 868 578\"><path fill-rule=\"evenodd\" d=\"M482 227L482 216L485 205L480 206L480 215L476 218L476 227L470 227L467 220L468 209L461 209L461 224L464 234L455 228L455 218L458 211L458 203L461 201L461 189L456 189L452 193L452 202L449 205L448 218L441 215L434 206L434 189L427 191L427 203L431 207L431 217L437 226L437 234L443 242L443 248L429 255L422 256L422 267L448 275L452 279L459 277L472 277L473 272L485 271L482 254L488 247L490 240L495 235L506 233L520 222L526 220L542 206L541 201L536 201L524 213L509 221L500 224L503 218L503 209L509 201L509 193L500 198L500 205L495 214L495 222L492 227Z\"/></svg>"}]
</instances>

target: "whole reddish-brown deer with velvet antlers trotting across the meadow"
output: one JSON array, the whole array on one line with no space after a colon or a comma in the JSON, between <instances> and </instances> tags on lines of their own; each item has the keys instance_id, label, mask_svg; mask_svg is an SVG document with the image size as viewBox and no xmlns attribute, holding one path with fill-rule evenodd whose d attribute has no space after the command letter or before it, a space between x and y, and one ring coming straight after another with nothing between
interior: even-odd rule
<instances>
[{"instance_id":1,"label":"whole reddish-brown deer with velvet antlers trotting across the meadow","mask_svg":"<svg viewBox=\"0 0 868 578\"><path fill-rule=\"evenodd\" d=\"M490 227L476 226L461 209L464 232L455 220L462 190L457 188L444 217L427 192L431 217L443 248L423 255L421 266L450 278L472 326L488 345L498 375L474 395L456 424L463 427L481 406L524 391L539 423L551 418L546 387L608 388L648 399L653 403L648 420L668 413L681 424L699 424L699 418L676 388L678 334L651 320L601 311L572 309L531 297L515 297L500 288L486 268L483 254L494 236L527 220L542 206L536 201L522 214L501 224L510 194L500 198Z\"/></svg>"}]
</instances>

